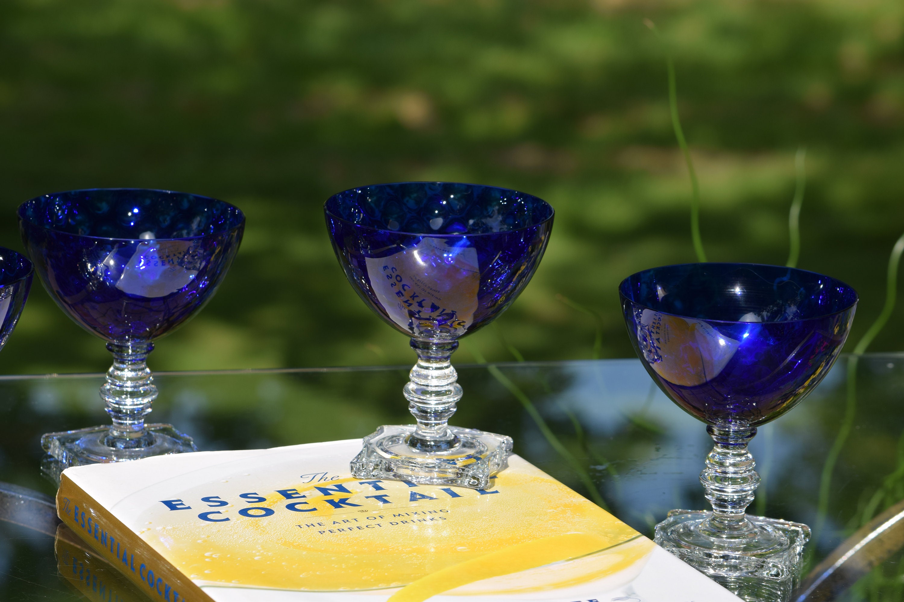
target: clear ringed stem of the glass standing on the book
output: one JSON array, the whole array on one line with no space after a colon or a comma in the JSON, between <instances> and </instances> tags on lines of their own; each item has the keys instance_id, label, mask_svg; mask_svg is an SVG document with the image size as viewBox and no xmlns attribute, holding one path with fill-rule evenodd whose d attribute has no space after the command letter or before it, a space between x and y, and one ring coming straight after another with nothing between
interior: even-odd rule
<instances>
[{"instance_id":1,"label":"clear ringed stem of the glass standing on the book","mask_svg":"<svg viewBox=\"0 0 904 602\"><path fill-rule=\"evenodd\" d=\"M418 353L418 363L411 368L403 392L418 425L408 444L424 452L455 448L459 440L449 430L448 420L461 399L461 385L456 382L458 374L451 362L458 342L412 338L411 347Z\"/></svg>"}]
</instances>

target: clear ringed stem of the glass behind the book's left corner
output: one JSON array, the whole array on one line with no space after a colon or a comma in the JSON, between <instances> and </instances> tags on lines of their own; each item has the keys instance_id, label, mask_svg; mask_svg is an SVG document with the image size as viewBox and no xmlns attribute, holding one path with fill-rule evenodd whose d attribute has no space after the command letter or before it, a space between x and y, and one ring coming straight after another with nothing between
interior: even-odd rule
<instances>
[{"instance_id":1,"label":"clear ringed stem of the glass behind the book's left corner","mask_svg":"<svg viewBox=\"0 0 904 602\"><path fill-rule=\"evenodd\" d=\"M108 343L113 366L107 382L100 387L100 398L107 403L113 419L104 445L111 448L145 448L154 444L154 435L145 430L145 416L151 412L157 387L147 367L147 355L154 349L149 342Z\"/></svg>"}]
</instances>

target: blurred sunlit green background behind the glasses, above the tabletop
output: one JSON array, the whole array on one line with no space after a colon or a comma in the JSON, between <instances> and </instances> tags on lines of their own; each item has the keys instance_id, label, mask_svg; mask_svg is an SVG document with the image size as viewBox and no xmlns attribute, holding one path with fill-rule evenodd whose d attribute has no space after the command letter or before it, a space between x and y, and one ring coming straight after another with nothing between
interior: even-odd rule
<instances>
[{"instance_id":1,"label":"blurred sunlit green background behind the glasses, above the tabletop","mask_svg":"<svg viewBox=\"0 0 904 602\"><path fill-rule=\"evenodd\" d=\"M603 357L633 356L617 283L694 259L645 18L673 53L710 260L786 262L806 146L798 266L862 293L858 340L904 226L897 1L6 0L0 244L21 248L14 208L52 190L230 200L248 215L240 255L152 367L408 364L407 341L344 282L323 201L379 181L508 186L548 199L556 225L521 299L466 347L590 357L601 328ZM899 312L871 349L902 334ZM6 373L109 364L40 285L0 358Z\"/></svg>"}]
</instances>

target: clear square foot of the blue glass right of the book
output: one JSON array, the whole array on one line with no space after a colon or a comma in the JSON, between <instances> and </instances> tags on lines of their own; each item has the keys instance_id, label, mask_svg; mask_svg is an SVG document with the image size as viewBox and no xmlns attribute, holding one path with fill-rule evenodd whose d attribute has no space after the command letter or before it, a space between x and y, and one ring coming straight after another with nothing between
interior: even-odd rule
<instances>
[{"instance_id":1,"label":"clear square foot of the blue glass right of the book","mask_svg":"<svg viewBox=\"0 0 904 602\"><path fill-rule=\"evenodd\" d=\"M784 602L800 579L810 528L747 516L739 533L711 530L712 513L673 510L656 525L655 542L747 602Z\"/></svg>"}]
</instances>

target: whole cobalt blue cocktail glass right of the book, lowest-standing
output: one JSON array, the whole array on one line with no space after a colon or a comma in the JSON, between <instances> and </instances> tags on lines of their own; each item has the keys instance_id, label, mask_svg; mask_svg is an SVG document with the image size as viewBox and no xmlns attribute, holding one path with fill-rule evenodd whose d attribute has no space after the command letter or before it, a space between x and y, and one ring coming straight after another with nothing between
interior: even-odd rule
<instances>
[{"instance_id":1,"label":"whole cobalt blue cocktail glass right of the book, lowest-standing","mask_svg":"<svg viewBox=\"0 0 904 602\"><path fill-rule=\"evenodd\" d=\"M759 483L748 443L828 374L857 293L819 273L758 264L657 267L619 292L647 372L715 440L700 477L712 511L673 510L656 542L745 599L786 598L809 529L745 514Z\"/></svg>"}]
</instances>

